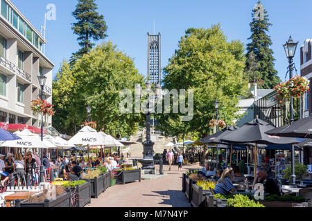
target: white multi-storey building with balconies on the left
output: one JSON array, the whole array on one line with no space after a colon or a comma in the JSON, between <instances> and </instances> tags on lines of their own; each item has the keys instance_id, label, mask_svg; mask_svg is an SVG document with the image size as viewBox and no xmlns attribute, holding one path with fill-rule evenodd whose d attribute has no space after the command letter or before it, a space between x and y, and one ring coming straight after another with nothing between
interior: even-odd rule
<instances>
[{"instance_id":1,"label":"white multi-storey building with balconies on the left","mask_svg":"<svg viewBox=\"0 0 312 221\"><path fill-rule=\"evenodd\" d=\"M54 64L44 55L46 43L38 30L8 0L0 0L0 125L39 127L41 117L31 111L40 97L38 75L45 75L44 99L52 102ZM46 126L51 125L48 117Z\"/></svg>"}]
</instances>

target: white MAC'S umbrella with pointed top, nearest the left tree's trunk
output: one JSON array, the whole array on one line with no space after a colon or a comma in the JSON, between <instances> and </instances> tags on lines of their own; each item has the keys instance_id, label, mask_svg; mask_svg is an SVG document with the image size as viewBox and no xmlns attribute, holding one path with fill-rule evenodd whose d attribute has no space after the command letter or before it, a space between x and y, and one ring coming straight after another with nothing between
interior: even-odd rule
<instances>
[{"instance_id":1,"label":"white MAC'S umbrella with pointed top, nearest the left tree's trunk","mask_svg":"<svg viewBox=\"0 0 312 221\"><path fill-rule=\"evenodd\" d=\"M89 164L89 146L102 146L103 136L100 133L96 132L96 130L94 130L93 128L85 126L80 131L78 131L76 135L71 137L71 139L69 140L69 144L87 146Z\"/></svg>"}]
</instances>

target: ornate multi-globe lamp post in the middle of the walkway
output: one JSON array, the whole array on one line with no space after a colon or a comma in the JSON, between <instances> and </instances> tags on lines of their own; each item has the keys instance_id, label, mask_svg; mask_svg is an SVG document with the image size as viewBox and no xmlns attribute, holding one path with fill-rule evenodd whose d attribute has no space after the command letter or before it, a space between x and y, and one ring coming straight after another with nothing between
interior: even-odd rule
<instances>
[{"instance_id":1,"label":"ornate multi-globe lamp post in the middle of the walkway","mask_svg":"<svg viewBox=\"0 0 312 221\"><path fill-rule=\"evenodd\" d=\"M151 92L151 84L149 81L146 82L146 92ZM141 97L142 88L139 84L135 86L135 93L138 97ZM155 86L156 101L162 96L162 88L160 84ZM149 97L150 99L150 97ZM150 140L150 102L147 104L148 112L146 113L146 141L143 143L143 160L139 160L142 164L142 169L155 170L154 166L154 142Z\"/></svg>"}]
</instances>

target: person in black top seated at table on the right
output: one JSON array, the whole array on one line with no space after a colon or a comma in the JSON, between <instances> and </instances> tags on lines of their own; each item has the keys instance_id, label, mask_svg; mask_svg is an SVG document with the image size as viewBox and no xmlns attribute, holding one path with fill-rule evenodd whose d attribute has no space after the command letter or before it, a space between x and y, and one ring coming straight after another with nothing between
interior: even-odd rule
<instances>
[{"instance_id":1,"label":"person in black top seated at table on the right","mask_svg":"<svg viewBox=\"0 0 312 221\"><path fill-rule=\"evenodd\" d=\"M262 167L257 169L252 189L254 189L254 185L257 183L263 184L264 193L268 193L270 195L281 195L277 182L275 182L272 177L268 176L266 169L263 169Z\"/></svg>"}]
</instances>

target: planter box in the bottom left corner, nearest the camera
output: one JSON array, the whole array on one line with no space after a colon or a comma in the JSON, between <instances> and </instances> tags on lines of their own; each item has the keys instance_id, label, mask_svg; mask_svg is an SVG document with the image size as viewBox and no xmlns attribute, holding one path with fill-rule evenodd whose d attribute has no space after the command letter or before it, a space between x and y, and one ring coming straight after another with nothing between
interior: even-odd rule
<instances>
[{"instance_id":1,"label":"planter box in the bottom left corner, nearest the camera","mask_svg":"<svg viewBox=\"0 0 312 221\"><path fill-rule=\"evenodd\" d=\"M15 207L71 207L70 197L63 186L53 186L27 200L15 200Z\"/></svg>"}]
</instances>

